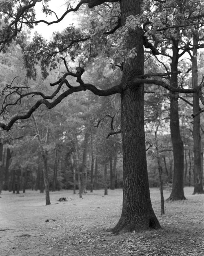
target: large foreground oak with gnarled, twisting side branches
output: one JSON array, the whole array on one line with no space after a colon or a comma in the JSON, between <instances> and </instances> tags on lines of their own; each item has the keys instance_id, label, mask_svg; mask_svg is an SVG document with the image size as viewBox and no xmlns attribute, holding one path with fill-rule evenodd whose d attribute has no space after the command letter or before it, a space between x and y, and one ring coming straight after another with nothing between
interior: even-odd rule
<instances>
[{"instance_id":1,"label":"large foreground oak with gnarled, twisting side branches","mask_svg":"<svg viewBox=\"0 0 204 256\"><path fill-rule=\"evenodd\" d=\"M18 27L16 24L19 22L32 25L37 24L39 22L46 21L33 21L29 20L27 15L31 14L29 12L30 8L35 6L35 4L39 2L39 0L33 0L27 5L22 6L20 11L17 11L16 18L9 23L7 26L7 31L10 29L11 33L4 33L2 35L1 43L2 47L5 43L9 42L16 33L20 29L16 29ZM41 1L40 1L41 2ZM84 3L88 3L89 8L97 7L102 5L104 2L114 3L118 2L117 0L81 0L75 8L68 8L64 15L55 21L59 22L64 18L66 14L70 11L77 11L80 6ZM116 7L115 7L116 6ZM70 7L70 5L69 5ZM200 94L200 91L195 89L182 89L182 88L175 88L166 84L163 80L157 79L146 79L146 77L154 77L154 76L162 76L162 74L146 74L144 75L144 48L150 48L154 54L157 54L158 51L153 47L151 43L147 41L146 36L144 36L144 31L141 29L140 26L131 26L131 23L128 24L127 20L130 20L129 17L131 16L138 16L140 15L140 1L139 0L121 0L120 7L119 5L113 5L113 9L118 8L121 12L120 19L117 20L118 28L122 26L123 35L122 35L122 43L120 44L120 52L123 54L123 63L120 65L122 70L122 79L120 84L116 86L112 86L109 89L102 90L98 89L96 86L85 83L82 80L82 75L84 73L84 68L77 67L76 72L71 72L67 66L67 62L64 58L64 65L66 67L66 71L64 75L58 81L51 83L51 86L57 86L55 92L52 95L45 95L42 92L25 92L24 94L20 93L19 91L11 86L7 86L10 91L14 91L14 94L18 95L19 99L23 99L24 97L28 97L30 95L35 95L40 97L40 100L37 100L35 104L27 111L27 113L23 115L17 115L11 118L11 120L5 124L0 123L0 127L5 130L11 129L12 125L17 120L23 120L29 118L31 114L38 109L38 107L42 104L48 107L48 109L52 109L57 104L59 104L65 97L71 95L72 93L79 92L79 91L86 91L89 90L92 93L99 95L99 96L108 96L113 95L115 93L120 93L121 96L121 134L122 134L122 151L123 151L123 168L124 168L124 175L123 175L123 205L122 205L122 214L120 220L115 228L113 228L114 233L118 233L121 230L126 231L142 231L142 230L149 230L149 229L159 229L160 224L155 216L153 211L151 200L150 200L150 193L149 193L149 183L148 183L148 174L147 174L147 165L146 165L146 148L145 148L145 134L144 134L144 83L145 84L157 84L158 86L163 86L174 92L180 93L197 93L200 96L202 102L203 96ZM48 9L47 9L47 12ZM20 18L19 18L20 17ZM21 19L22 18L22 19ZM127 23L126 23L127 22ZM70 31L69 28L67 31ZM115 32L116 29L112 29L109 32L106 32L106 35L112 34ZM63 50L67 50L69 47L79 45L80 42L92 40L90 35L86 37L84 34L80 34L78 30L71 31L72 33L69 34L71 36L71 41L66 44L58 45L57 52L55 51L50 56L58 52L62 52ZM67 35L68 36L68 35ZM46 42L42 40L42 37L35 37L35 43L40 42L40 45L32 44L33 50L40 50L44 46L46 46ZM38 40L37 40L38 39ZM60 38L60 40L62 37ZM62 40L61 40L62 41ZM60 42L61 42L60 41ZM43 44L41 44L43 43ZM53 46L54 49L56 46L52 42L50 48L46 46L47 50L52 50ZM68 46L67 46L68 45ZM105 45L105 40L104 40ZM105 45L106 46L106 45ZM39 48L40 47L40 48ZM31 50L31 48L29 48ZM135 50L137 52L135 52ZM41 57L47 56L47 53L38 55L38 60ZM31 59L30 59L31 61ZM46 64L42 65L42 68L45 71ZM118 65L119 66L119 65ZM177 73L177 72L174 72ZM172 73L168 73L171 75ZM166 74L164 74L166 75ZM163 75L163 76L164 76ZM72 86L68 81L67 77L72 76L77 78L77 82L79 86ZM62 86L67 86L67 90L64 92L60 91ZM58 94L58 93L61 94ZM57 97L55 97L57 95ZM5 95L3 95L5 96ZM52 100L55 97L53 101ZM2 112L7 109L8 105L7 102L4 101L4 107ZM13 103L15 104L15 102Z\"/></svg>"}]
</instances>

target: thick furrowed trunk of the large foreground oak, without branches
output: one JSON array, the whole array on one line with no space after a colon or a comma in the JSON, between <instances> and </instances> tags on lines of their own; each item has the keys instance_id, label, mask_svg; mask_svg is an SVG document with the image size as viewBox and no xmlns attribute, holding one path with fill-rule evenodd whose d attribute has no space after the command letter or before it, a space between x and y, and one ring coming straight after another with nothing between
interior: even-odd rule
<instances>
[{"instance_id":1,"label":"thick furrowed trunk of the large foreground oak, without branches","mask_svg":"<svg viewBox=\"0 0 204 256\"><path fill-rule=\"evenodd\" d=\"M139 0L121 0L122 25L126 17L140 14ZM126 81L144 74L143 34L140 28L131 30L125 38L126 49L137 49L134 59L126 60L123 68L121 93L121 131L123 150L123 204L122 214L113 233L144 231L160 228L151 206L146 165L144 134L144 85L131 88Z\"/></svg>"}]
</instances>

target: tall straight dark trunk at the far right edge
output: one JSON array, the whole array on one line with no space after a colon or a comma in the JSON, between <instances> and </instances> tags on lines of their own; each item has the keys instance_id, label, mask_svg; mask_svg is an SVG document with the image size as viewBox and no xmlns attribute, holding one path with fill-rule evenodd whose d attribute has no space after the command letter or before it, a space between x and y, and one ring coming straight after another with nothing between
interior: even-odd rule
<instances>
[{"instance_id":1,"label":"tall straight dark trunk at the far right edge","mask_svg":"<svg viewBox=\"0 0 204 256\"><path fill-rule=\"evenodd\" d=\"M198 45L198 35L193 35L193 45ZM193 48L193 54L191 56L192 63L192 86L197 88L197 49ZM199 97L197 93L193 93L193 114L200 110ZM193 174L194 174L194 194L203 194L203 184L202 184L202 168L201 168L201 137L200 137L200 115L193 118Z\"/></svg>"}]
</instances>

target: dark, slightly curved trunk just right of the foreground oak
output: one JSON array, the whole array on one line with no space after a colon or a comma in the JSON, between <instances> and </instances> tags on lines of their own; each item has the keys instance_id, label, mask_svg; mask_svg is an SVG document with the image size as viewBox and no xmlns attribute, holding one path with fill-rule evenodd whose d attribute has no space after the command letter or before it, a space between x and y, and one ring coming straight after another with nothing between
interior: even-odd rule
<instances>
[{"instance_id":1,"label":"dark, slightly curved trunk just right of the foreground oak","mask_svg":"<svg viewBox=\"0 0 204 256\"><path fill-rule=\"evenodd\" d=\"M178 71L178 41L172 46L173 57L171 62L171 72ZM171 75L170 84L173 87L178 87L177 74ZM180 135L179 112L178 112L178 93L170 93L170 129L171 141L173 146L173 186L171 195L168 200L183 200L184 196L184 146Z\"/></svg>"}]
</instances>

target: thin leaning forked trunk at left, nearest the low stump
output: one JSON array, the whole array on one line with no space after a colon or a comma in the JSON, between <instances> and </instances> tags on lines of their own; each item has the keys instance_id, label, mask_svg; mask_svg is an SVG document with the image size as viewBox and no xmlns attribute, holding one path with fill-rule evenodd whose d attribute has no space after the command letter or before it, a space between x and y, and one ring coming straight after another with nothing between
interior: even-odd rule
<instances>
[{"instance_id":1,"label":"thin leaning forked trunk at left, nearest the low stump","mask_svg":"<svg viewBox=\"0 0 204 256\"><path fill-rule=\"evenodd\" d=\"M44 178L44 188L45 188L45 202L46 205L50 204L50 196L49 196L49 180L48 180L48 167L47 167L47 150L44 150L43 145L42 145L42 140L40 137L40 133L39 133L39 129L38 129L38 124L35 120L35 116L32 114L32 118L33 118L33 122L35 125L35 131L36 131L36 135L38 136L38 141L39 141L39 145L40 145L40 150L41 150L41 154L42 154L42 172L43 172L43 178ZM45 143L47 144L48 142L48 137L49 137L49 127L47 127L47 132L46 132L46 136L45 136Z\"/></svg>"}]
</instances>

